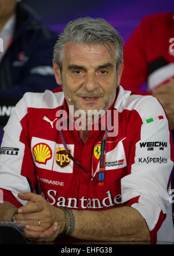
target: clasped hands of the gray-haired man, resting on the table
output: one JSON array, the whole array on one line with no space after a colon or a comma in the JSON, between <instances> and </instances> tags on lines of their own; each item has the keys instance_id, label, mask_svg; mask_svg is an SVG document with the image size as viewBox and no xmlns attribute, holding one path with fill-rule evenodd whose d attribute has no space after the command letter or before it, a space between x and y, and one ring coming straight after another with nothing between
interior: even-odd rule
<instances>
[{"instance_id":1,"label":"clasped hands of the gray-haired man, resting on the table","mask_svg":"<svg viewBox=\"0 0 174 256\"><path fill-rule=\"evenodd\" d=\"M38 242L55 240L64 228L63 211L48 204L41 195L27 192L18 196L28 201L14 215L14 222L23 225L24 235Z\"/></svg>"}]
</instances>

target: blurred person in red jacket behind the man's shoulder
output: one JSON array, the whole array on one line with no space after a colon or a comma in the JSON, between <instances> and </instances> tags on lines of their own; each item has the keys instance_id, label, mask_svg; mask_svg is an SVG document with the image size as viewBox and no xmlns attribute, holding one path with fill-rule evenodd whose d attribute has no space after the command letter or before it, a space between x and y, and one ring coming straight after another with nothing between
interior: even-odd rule
<instances>
[{"instance_id":1,"label":"blurred person in red jacket behind the man's shoulder","mask_svg":"<svg viewBox=\"0 0 174 256\"><path fill-rule=\"evenodd\" d=\"M124 88L147 91L164 106L174 134L174 11L142 19L124 47Z\"/></svg>"}]
</instances>

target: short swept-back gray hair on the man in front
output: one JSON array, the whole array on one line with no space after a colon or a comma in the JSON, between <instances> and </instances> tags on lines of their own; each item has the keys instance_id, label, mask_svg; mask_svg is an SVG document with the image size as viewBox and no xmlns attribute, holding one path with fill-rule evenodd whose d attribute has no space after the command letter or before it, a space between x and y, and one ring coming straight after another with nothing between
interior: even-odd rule
<instances>
[{"instance_id":1,"label":"short swept-back gray hair on the man in front","mask_svg":"<svg viewBox=\"0 0 174 256\"><path fill-rule=\"evenodd\" d=\"M123 41L117 31L104 19L92 19L90 17L80 18L69 22L64 28L64 32L59 35L53 51L54 61L62 69L62 59L64 57L64 45L66 42L77 44L103 44L108 47L112 54L112 49L108 43L115 46L115 58L117 67L122 63Z\"/></svg>"}]
</instances>

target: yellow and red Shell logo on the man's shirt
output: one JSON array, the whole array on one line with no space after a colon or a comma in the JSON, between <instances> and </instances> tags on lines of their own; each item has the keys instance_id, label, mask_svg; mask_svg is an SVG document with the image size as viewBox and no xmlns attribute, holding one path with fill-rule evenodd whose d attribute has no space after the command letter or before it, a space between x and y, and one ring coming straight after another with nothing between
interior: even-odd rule
<instances>
[{"instance_id":1,"label":"yellow and red Shell logo on the man's shirt","mask_svg":"<svg viewBox=\"0 0 174 256\"><path fill-rule=\"evenodd\" d=\"M45 143L38 143L32 148L35 161L46 165L46 162L52 158L52 150Z\"/></svg>"}]
</instances>

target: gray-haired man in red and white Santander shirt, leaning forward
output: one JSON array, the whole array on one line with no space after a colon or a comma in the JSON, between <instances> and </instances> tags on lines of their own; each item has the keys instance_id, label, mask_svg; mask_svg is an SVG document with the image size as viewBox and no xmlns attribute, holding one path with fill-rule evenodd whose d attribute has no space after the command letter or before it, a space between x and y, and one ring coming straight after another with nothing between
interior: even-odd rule
<instances>
[{"instance_id":1,"label":"gray-haired man in red and white Santander shirt, leaning forward","mask_svg":"<svg viewBox=\"0 0 174 256\"><path fill-rule=\"evenodd\" d=\"M26 93L5 127L1 221L37 242L173 241L168 120L156 98L119 85L121 37L103 19L77 19L53 56L61 87ZM78 111L102 111L99 129L93 118L79 129Z\"/></svg>"}]
</instances>

